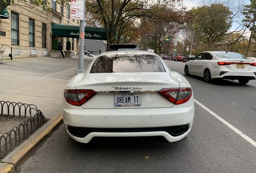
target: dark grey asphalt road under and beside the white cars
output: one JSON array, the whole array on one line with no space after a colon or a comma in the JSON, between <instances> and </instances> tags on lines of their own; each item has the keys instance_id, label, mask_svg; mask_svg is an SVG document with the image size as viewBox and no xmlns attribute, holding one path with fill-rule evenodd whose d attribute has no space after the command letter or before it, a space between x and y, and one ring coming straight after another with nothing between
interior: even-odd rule
<instances>
[{"instance_id":1,"label":"dark grey asphalt road under and beside the white cars","mask_svg":"<svg viewBox=\"0 0 256 173\"><path fill-rule=\"evenodd\" d=\"M165 62L184 75L184 63ZM186 78L194 91L195 117L192 131L181 141L94 138L83 144L72 140L61 125L19 172L255 173L256 81L209 84L196 76Z\"/></svg>"}]
</instances>

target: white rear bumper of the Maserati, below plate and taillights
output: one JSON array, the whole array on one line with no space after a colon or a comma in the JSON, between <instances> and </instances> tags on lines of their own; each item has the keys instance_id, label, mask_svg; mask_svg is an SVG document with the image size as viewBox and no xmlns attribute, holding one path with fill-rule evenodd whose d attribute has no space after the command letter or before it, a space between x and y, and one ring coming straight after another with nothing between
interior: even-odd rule
<instances>
[{"instance_id":1,"label":"white rear bumper of the Maserati, below plate and taillights","mask_svg":"<svg viewBox=\"0 0 256 173\"><path fill-rule=\"evenodd\" d=\"M62 111L68 135L81 143L88 143L93 137L140 136L163 136L167 141L175 142L186 137L191 131L194 120L194 97L184 104L171 108L83 109L66 105ZM175 129L184 129L183 126L187 126L184 133L172 134ZM83 135L74 135L74 131L70 133L70 128L74 131L83 131Z\"/></svg>"}]
</instances>

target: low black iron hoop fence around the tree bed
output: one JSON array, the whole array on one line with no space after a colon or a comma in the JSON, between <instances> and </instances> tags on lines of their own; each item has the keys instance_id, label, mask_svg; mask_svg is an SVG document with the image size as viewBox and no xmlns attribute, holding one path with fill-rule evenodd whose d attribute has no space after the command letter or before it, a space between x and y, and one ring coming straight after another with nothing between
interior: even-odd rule
<instances>
[{"instance_id":1,"label":"low black iron hoop fence around the tree bed","mask_svg":"<svg viewBox=\"0 0 256 173\"><path fill-rule=\"evenodd\" d=\"M0 101L0 108L2 116L15 116L15 113L18 113L19 117L21 117L21 111L23 110L24 117L27 116L27 111L30 115L26 121L23 121L18 126L13 127L9 132L0 136L0 159L3 159L3 157L21 144L23 140L29 137L29 135L35 132L41 125L43 125L47 119L43 116L43 113L32 104L28 105L23 103ZM7 110L4 110L5 108ZM12 115L10 115L11 108ZM32 116L33 111L35 112L35 115Z\"/></svg>"}]
</instances>

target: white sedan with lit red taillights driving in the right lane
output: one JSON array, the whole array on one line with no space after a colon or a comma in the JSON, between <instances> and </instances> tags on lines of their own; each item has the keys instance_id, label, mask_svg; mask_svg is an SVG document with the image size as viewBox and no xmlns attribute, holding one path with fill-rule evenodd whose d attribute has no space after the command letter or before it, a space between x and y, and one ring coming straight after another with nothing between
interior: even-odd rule
<instances>
[{"instance_id":1,"label":"white sedan with lit red taillights driving in the right lane","mask_svg":"<svg viewBox=\"0 0 256 173\"><path fill-rule=\"evenodd\" d=\"M201 52L185 65L186 76L194 74L210 82L213 78L238 80L248 83L256 77L256 63L234 52Z\"/></svg>"}]
</instances>

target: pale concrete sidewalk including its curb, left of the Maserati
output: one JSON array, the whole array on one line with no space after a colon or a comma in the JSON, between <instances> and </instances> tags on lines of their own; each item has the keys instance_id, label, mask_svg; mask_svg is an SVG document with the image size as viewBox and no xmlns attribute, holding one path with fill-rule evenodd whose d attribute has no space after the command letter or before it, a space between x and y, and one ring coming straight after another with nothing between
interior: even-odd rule
<instances>
[{"instance_id":1,"label":"pale concrete sidewalk including its curb, left of the Maserati","mask_svg":"<svg viewBox=\"0 0 256 173\"><path fill-rule=\"evenodd\" d=\"M84 56L84 69L94 57ZM78 68L72 58L24 58L0 64L0 101L33 104L51 119L0 162L0 173L15 172L62 123L64 87Z\"/></svg>"}]
</instances>

